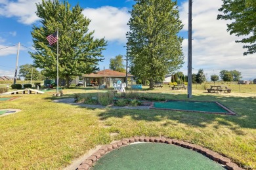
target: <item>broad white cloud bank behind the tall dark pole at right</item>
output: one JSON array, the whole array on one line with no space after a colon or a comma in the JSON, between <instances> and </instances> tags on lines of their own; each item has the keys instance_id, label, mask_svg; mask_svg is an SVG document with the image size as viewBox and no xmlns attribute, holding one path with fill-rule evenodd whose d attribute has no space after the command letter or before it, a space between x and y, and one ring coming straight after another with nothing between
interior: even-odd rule
<instances>
[{"instance_id":1,"label":"broad white cloud bank behind the tall dark pole at right","mask_svg":"<svg viewBox=\"0 0 256 170\"><path fill-rule=\"evenodd\" d=\"M217 20L222 1L211 2L211 0L194 0L193 2L192 67L194 70L192 73L203 69L209 78L213 74L219 75L219 71L223 69L228 71L236 69L242 72L245 79L256 78L253 74L256 73L256 55L243 56L246 50L242 47L244 44L235 42L242 37L226 32L226 24L230 21ZM188 2L183 3L180 9L184 24L182 31L188 31ZM187 73L187 39L182 42L182 48L186 63L181 71Z\"/></svg>"}]
</instances>

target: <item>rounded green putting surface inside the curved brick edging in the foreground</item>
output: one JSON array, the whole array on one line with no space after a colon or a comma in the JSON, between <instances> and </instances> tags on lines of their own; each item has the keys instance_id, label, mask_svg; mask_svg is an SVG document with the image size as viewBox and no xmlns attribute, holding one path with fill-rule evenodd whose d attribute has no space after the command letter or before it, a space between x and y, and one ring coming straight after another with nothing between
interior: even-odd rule
<instances>
[{"instance_id":1,"label":"rounded green putting surface inside the curved brick edging in the foreground","mask_svg":"<svg viewBox=\"0 0 256 170\"><path fill-rule=\"evenodd\" d=\"M112 150L96 161L94 170L108 169L224 169L195 152L163 143L138 143Z\"/></svg>"}]
</instances>

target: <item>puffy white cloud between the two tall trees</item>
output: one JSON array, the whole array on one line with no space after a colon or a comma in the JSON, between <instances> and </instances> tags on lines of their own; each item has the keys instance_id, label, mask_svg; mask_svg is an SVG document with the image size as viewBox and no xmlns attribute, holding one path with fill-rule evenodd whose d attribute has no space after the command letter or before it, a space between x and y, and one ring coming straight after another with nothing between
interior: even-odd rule
<instances>
[{"instance_id":1,"label":"puffy white cloud between the two tall trees","mask_svg":"<svg viewBox=\"0 0 256 170\"><path fill-rule=\"evenodd\" d=\"M84 16L91 19L89 31L95 30L96 38L105 37L108 41L126 42L125 34L129 31L127 22L130 15L126 8L100 7L98 9L84 9Z\"/></svg>"}]
</instances>

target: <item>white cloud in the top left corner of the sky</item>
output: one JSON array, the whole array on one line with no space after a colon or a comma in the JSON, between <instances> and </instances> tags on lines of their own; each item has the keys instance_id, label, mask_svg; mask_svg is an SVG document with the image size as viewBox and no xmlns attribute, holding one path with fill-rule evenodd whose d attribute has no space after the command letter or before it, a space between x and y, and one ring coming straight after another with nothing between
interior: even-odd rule
<instances>
[{"instance_id":1,"label":"white cloud in the top left corner of the sky","mask_svg":"<svg viewBox=\"0 0 256 170\"><path fill-rule=\"evenodd\" d=\"M17 2L10 2L0 0L0 16L5 17L17 17L18 22L22 24L32 24L39 18L36 16L35 3L39 3L39 0L18 0Z\"/></svg>"}]
</instances>

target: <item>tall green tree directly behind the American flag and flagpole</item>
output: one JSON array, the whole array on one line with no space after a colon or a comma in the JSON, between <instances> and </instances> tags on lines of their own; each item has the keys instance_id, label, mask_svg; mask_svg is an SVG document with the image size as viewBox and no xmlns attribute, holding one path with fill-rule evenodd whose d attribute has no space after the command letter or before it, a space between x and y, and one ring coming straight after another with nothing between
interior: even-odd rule
<instances>
[{"instance_id":1,"label":"tall green tree directly behind the American flag and flagpole","mask_svg":"<svg viewBox=\"0 0 256 170\"><path fill-rule=\"evenodd\" d=\"M47 35L51 35L59 28L59 77L65 78L66 86L74 76L93 73L98 70L98 62L102 61L102 50L106 46L103 39L95 39L89 32L91 22L83 16L81 7L71 7L68 1L60 3L58 0L43 0L36 4L35 12L40 23L33 25L33 47L37 52L30 52L34 65L44 69L47 75L56 77L56 44L47 42Z\"/></svg>"}]
</instances>

